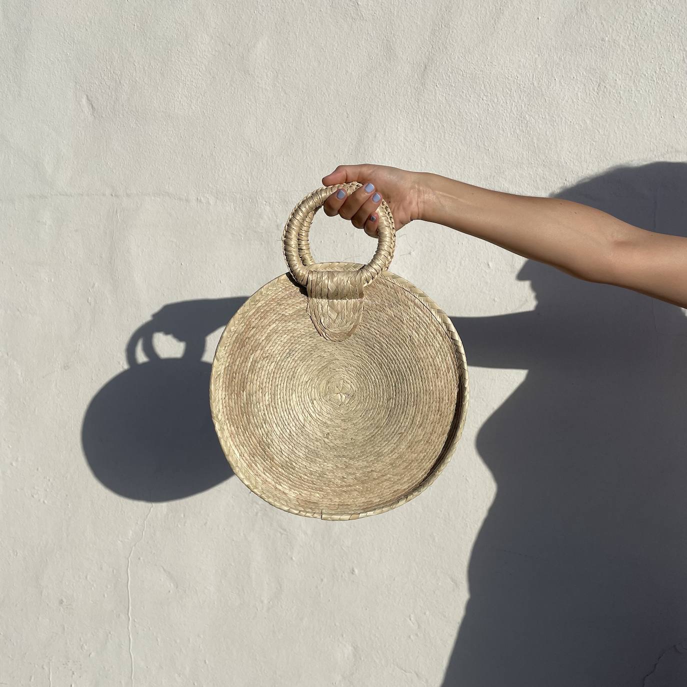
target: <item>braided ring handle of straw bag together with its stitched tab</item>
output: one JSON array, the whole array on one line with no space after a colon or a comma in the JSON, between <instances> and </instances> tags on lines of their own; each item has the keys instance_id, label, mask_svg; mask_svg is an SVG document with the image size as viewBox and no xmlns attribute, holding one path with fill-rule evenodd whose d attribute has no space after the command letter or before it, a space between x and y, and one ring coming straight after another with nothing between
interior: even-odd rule
<instances>
[{"instance_id":1,"label":"braided ring handle of straw bag together with its stitched tab","mask_svg":"<svg viewBox=\"0 0 687 687\"><path fill-rule=\"evenodd\" d=\"M343 341L357 328L363 312L363 289L389 267L396 246L394 217L385 201L378 208L377 249L368 264L358 270L317 270L308 236L315 213L339 188L349 193L361 187L358 181L319 188L305 196L289 215L282 243L284 258L293 278L308 293L308 313L325 339Z\"/></svg>"}]
</instances>

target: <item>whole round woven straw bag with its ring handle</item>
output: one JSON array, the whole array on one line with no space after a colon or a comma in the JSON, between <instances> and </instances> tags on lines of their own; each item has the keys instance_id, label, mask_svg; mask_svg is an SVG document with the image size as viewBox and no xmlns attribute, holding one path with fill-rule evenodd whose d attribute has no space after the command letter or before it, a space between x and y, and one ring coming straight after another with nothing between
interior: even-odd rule
<instances>
[{"instance_id":1,"label":"whole round woven straw bag with its ring handle","mask_svg":"<svg viewBox=\"0 0 687 687\"><path fill-rule=\"evenodd\" d=\"M286 273L227 324L210 380L218 438L240 480L289 513L352 520L424 491L460 439L465 353L451 320L387 270L394 218L379 206L372 260L316 263L313 217L339 188L320 188L289 216Z\"/></svg>"}]
</instances>

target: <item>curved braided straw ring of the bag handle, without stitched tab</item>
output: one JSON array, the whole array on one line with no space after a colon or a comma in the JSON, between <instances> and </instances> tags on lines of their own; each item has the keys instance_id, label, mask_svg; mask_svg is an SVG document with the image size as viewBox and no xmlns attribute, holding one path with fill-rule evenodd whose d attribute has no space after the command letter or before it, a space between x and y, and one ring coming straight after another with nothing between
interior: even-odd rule
<instances>
[{"instance_id":1,"label":"curved braided straw ring of the bag handle, without stitched tab","mask_svg":"<svg viewBox=\"0 0 687 687\"><path fill-rule=\"evenodd\" d=\"M308 240L310 225L313 223L315 213L324 201L339 188L345 189L349 194L362 186L358 181L349 183L337 183L333 186L319 188L305 196L305 198L293 208L284 227L282 240L284 243L284 257L289 265L293 278L305 286L308 281L308 272L315 260L310 252ZM386 201L382 201L377 208L379 223L377 228L377 249L372 260L363 265L358 272L363 284L369 284L379 273L389 267L394 257L396 245L396 231L394 229L394 217Z\"/></svg>"}]
</instances>

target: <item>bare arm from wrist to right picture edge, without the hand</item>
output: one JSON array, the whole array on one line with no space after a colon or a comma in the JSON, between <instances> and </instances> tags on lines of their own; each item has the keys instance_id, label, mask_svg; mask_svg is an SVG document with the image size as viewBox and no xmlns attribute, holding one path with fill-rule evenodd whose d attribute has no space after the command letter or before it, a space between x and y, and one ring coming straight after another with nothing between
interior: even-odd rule
<instances>
[{"instance_id":1,"label":"bare arm from wrist to right picture edge, without the hand","mask_svg":"<svg viewBox=\"0 0 687 687\"><path fill-rule=\"evenodd\" d=\"M418 218L482 238L589 282L687 308L687 238L657 234L555 198L487 190L418 172Z\"/></svg>"}]
</instances>

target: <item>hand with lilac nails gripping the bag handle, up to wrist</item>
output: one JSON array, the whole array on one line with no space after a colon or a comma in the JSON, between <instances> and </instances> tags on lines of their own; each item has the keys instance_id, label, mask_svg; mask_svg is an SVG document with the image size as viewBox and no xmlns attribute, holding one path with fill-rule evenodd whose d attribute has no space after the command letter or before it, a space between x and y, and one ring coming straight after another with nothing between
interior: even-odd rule
<instances>
[{"instance_id":1,"label":"hand with lilac nails gripping the bag handle, up to wrist","mask_svg":"<svg viewBox=\"0 0 687 687\"><path fill-rule=\"evenodd\" d=\"M350 220L357 229L364 229L368 236L376 237L379 213L375 211L384 199L394 216L394 227L398 232L420 217L421 174L383 165L339 165L331 174L322 177L324 185L350 181L359 181L363 185L351 194L344 189L335 191L322 205L324 214L330 217L338 214ZM337 193L343 193L343 196L339 198Z\"/></svg>"}]
</instances>

